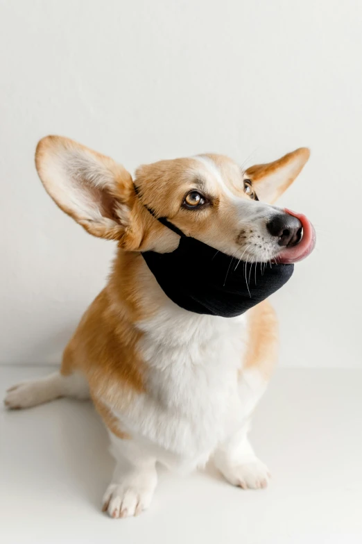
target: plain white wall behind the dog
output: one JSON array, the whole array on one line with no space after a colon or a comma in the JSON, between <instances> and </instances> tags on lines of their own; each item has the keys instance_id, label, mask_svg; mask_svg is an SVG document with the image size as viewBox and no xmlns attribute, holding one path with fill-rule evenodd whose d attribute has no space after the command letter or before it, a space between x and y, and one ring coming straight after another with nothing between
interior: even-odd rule
<instances>
[{"instance_id":1,"label":"plain white wall behind the dog","mask_svg":"<svg viewBox=\"0 0 362 544\"><path fill-rule=\"evenodd\" d=\"M362 366L359 0L2 0L2 363L60 360L114 251L53 204L37 140L128 169L202 151L248 165L307 145L282 204L318 246L275 295L284 365Z\"/></svg>"}]
</instances>

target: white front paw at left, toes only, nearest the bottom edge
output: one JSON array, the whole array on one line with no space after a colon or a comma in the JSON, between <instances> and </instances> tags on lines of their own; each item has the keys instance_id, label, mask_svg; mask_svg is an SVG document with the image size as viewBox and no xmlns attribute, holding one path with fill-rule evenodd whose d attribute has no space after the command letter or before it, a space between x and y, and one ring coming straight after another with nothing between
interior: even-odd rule
<instances>
[{"instance_id":1,"label":"white front paw at left, toes only, nearest the bottom edge","mask_svg":"<svg viewBox=\"0 0 362 544\"><path fill-rule=\"evenodd\" d=\"M103 495L103 512L111 518L128 518L139 514L150 506L155 491L157 476L138 475L126 477L122 484L110 484Z\"/></svg>"}]
</instances>

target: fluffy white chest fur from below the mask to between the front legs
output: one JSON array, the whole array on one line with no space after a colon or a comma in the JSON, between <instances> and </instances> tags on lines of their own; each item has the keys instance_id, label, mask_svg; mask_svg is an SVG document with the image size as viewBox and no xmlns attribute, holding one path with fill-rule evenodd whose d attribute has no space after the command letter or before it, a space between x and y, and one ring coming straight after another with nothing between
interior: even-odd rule
<instances>
[{"instance_id":1,"label":"fluffy white chest fur from below the mask to between the front legs","mask_svg":"<svg viewBox=\"0 0 362 544\"><path fill-rule=\"evenodd\" d=\"M117 416L164 463L189 468L205 462L241 425L255 397L239 378L245 316L198 315L168 301L139 327L144 331L139 348L148 368L147 393Z\"/></svg>"}]
</instances>

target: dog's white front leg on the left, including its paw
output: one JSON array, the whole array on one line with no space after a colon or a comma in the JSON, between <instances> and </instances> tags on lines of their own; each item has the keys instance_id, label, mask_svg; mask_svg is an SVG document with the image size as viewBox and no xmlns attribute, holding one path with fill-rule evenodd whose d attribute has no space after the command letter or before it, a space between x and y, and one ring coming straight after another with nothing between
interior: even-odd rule
<instances>
[{"instance_id":1,"label":"dog's white front leg on the left, including its paw","mask_svg":"<svg viewBox=\"0 0 362 544\"><path fill-rule=\"evenodd\" d=\"M110 432L116 459L112 481L103 497L103 511L112 518L137 516L148 508L157 484L156 460L132 438Z\"/></svg>"}]
</instances>

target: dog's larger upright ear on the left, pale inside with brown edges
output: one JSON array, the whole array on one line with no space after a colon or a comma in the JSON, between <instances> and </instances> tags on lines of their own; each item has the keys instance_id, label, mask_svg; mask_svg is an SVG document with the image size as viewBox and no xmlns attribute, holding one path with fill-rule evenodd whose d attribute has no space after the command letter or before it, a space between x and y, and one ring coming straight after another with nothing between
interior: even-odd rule
<instances>
[{"instance_id":1,"label":"dog's larger upright ear on the left, pale inside with brown edges","mask_svg":"<svg viewBox=\"0 0 362 544\"><path fill-rule=\"evenodd\" d=\"M89 233L119 240L130 222L132 176L112 158L46 136L35 153L37 172L58 206Z\"/></svg>"}]
</instances>

